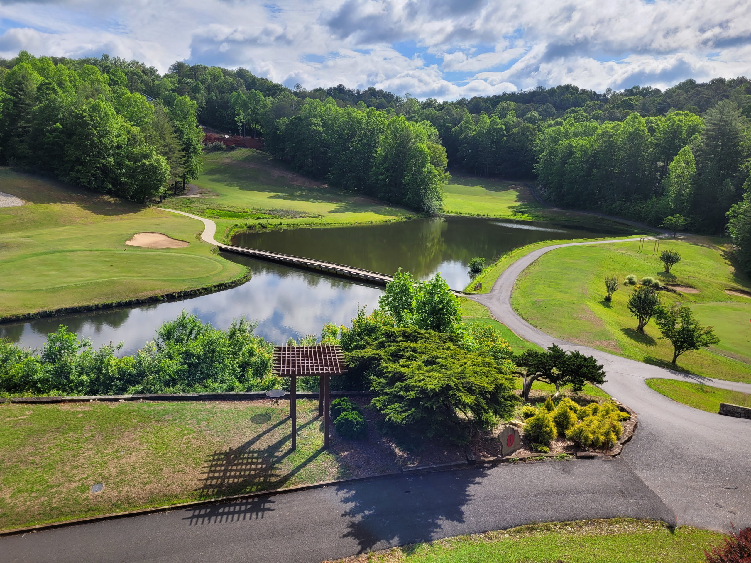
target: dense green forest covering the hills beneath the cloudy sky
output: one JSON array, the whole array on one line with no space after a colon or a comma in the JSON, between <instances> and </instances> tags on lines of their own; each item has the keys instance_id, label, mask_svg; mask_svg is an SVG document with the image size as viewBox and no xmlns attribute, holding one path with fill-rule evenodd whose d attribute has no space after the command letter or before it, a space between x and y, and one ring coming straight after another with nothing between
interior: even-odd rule
<instances>
[{"instance_id":1,"label":"dense green forest covering the hills beneath the cloudy sky","mask_svg":"<svg viewBox=\"0 0 751 563\"><path fill-rule=\"evenodd\" d=\"M369 88L288 89L176 62L0 60L0 161L133 200L201 171L201 129L264 137L294 170L440 211L447 166L530 179L556 206L728 234L751 271L751 81L577 86L439 102ZM148 96L148 98L146 98Z\"/></svg>"}]
</instances>

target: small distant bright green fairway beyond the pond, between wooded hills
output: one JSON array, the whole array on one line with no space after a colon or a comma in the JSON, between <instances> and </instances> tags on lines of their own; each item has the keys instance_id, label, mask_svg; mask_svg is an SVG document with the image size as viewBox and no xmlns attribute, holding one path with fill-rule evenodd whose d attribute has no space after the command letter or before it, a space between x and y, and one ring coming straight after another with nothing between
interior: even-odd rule
<instances>
[{"instance_id":1,"label":"small distant bright green fairway beyond the pond, between wooded hills","mask_svg":"<svg viewBox=\"0 0 751 563\"><path fill-rule=\"evenodd\" d=\"M521 182L453 175L443 186L443 210L461 215L541 218L544 207Z\"/></svg>"}]
</instances>

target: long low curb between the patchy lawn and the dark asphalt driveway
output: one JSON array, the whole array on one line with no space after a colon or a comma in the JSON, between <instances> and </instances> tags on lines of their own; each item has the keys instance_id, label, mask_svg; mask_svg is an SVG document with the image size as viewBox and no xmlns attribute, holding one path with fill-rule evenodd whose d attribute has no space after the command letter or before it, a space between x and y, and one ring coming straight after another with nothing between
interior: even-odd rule
<instances>
[{"instance_id":1,"label":"long low curb between the patchy lawn and the dark asphalt driveway","mask_svg":"<svg viewBox=\"0 0 751 563\"><path fill-rule=\"evenodd\" d=\"M366 477L351 477L350 479L339 479L333 481L321 481L320 483L310 483L309 485L298 485L286 487L285 489L271 489L268 491L246 492L243 495L223 496L219 498L209 498L205 501L182 502L180 504L167 504L166 506L153 508L140 508L138 510L126 510L125 512L116 512L110 514L100 514L99 516L86 516L85 518L76 518L72 520L62 520L61 522L50 522L48 524L37 524L26 526L24 528L11 528L9 530L0 530L0 537L17 534L27 534L32 531L50 530L53 528L66 528L68 526L88 524L89 522L102 522L104 520L116 520L120 518L129 518L131 516L143 516L158 512L171 512L172 510L182 510L184 508L193 508L207 506L210 504L222 504L225 502L243 501L246 498L259 498L266 496L285 495L290 492L300 492L309 489L325 489L327 486L340 486L348 483L359 483L360 481L385 479L387 477L404 477L405 474L420 473L437 473L439 471L451 471L467 467L466 462L449 462L438 465L422 465L415 468L403 468L402 471L392 471L381 475L368 475Z\"/></svg>"}]
</instances>

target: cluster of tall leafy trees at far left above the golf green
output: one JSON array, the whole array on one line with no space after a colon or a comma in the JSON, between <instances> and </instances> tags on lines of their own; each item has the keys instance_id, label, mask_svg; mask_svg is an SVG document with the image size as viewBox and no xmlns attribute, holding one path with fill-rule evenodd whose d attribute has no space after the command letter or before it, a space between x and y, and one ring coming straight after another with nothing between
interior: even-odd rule
<instances>
[{"instance_id":1,"label":"cluster of tall leafy trees at far left above the golf green","mask_svg":"<svg viewBox=\"0 0 751 563\"><path fill-rule=\"evenodd\" d=\"M197 106L149 103L119 68L20 53L0 72L0 162L144 202L202 169Z\"/></svg>"}]
</instances>

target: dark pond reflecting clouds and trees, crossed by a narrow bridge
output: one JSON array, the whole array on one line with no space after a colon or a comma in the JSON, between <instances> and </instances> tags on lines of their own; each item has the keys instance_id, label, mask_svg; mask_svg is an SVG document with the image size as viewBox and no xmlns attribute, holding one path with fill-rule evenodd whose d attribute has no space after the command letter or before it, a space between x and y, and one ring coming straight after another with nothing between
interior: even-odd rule
<instances>
[{"instance_id":1,"label":"dark pond reflecting clouds and trees, crossed by a narrow bridge","mask_svg":"<svg viewBox=\"0 0 751 563\"><path fill-rule=\"evenodd\" d=\"M388 274L401 266L420 279L441 272L451 288L460 290L469 283L467 264L475 256L492 260L531 242L609 234L615 233L542 221L514 223L449 216L391 224L242 233L235 237L234 244ZM125 342L122 354L130 354L153 338L162 321L173 319L186 309L218 328L226 328L234 318L245 315L258 322L258 334L283 344L289 337L320 334L327 322L348 325L357 306L372 310L382 292L381 288L354 281L237 254L223 255L250 266L252 278L237 288L188 300L4 324L0 325L0 336L35 348L46 341L47 333L65 324L80 338L91 338L96 346Z\"/></svg>"}]
</instances>

